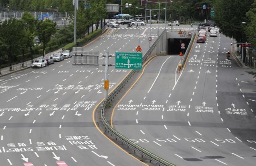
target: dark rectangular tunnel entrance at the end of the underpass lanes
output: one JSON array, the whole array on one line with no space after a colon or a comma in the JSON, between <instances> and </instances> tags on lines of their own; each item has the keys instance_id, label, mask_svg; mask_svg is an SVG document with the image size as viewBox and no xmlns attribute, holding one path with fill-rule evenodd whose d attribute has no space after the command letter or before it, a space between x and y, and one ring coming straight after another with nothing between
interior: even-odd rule
<instances>
[{"instance_id":1,"label":"dark rectangular tunnel entrance at the end of the underpass lanes","mask_svg":"<svg viewBox=\"0 0 256 166\"><path fill-rule=\"evenodd\" d=\"M184 54L188 48L188 44L190 43L191 39L171 39L169 38L167 41L168 47L167 52L169 55L179 55L182 52L180 48L180 43L185 43Z\"/></svg>"}]
</instances>

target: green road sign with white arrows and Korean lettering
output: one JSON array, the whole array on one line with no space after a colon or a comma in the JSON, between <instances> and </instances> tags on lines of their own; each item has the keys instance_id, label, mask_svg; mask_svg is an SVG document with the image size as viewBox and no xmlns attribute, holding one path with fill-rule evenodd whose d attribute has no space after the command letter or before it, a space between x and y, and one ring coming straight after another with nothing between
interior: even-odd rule
<instances>
[{"instance_id":1,"label":"green road sign with white arrows and Korean lettering","mask_svg":"<svg viewBox=\"0 0 256 166\"><path fill-rule=\"evenodd\" d=\"M142 69L142 53L116 53L116 67Z\"/></svg>"}]
</instances>

